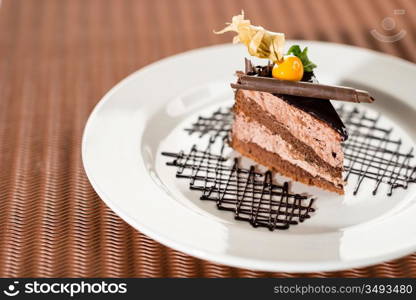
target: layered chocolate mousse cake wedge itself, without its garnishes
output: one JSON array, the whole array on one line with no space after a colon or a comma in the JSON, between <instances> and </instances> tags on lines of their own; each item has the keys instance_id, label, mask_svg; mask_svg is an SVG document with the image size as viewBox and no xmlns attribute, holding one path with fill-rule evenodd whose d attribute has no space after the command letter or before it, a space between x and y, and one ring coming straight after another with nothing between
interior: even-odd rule
<instances>
[{"instance_id":1,"label":"layered chocolate mousse cake wedge itself, without its garnishes","mask_svg":"<svg viewBox=\"0 0 416 300\"><path fill-rule=\"evenodd\" d=\"M246 74L271 77L270 66L246 64ZM314 82L308 72L302 81ZM231 146L242 155L304 184L344 193L347 131L324 99L237 89Z\"/></svg>"}]
</instances>

